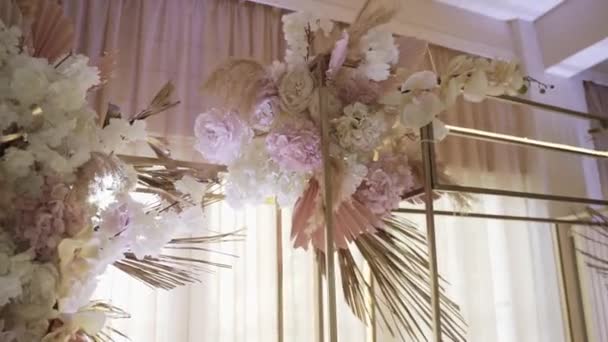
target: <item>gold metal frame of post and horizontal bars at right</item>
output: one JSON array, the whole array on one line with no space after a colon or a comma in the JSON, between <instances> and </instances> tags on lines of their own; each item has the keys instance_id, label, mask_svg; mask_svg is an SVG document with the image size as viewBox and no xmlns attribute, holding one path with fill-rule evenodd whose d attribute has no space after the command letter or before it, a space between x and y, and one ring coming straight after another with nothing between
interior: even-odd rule
<instances>
[{"instance_id":1,"label":"gold metal frame of post and horizontal bars at right","mask_svg":"<svg viewBox=\"0 0 608 342\"><path fill-rule=\"evenodd\" d=\"M507 102L511 104L523 105L534 107L542 110L552 111L559 114L565 114L574 116L581 119L586 120L594 120L598 121L603 127L608 126L608 118L601 117L595 114L587 114L582 112L573 111L570 109L550 106L526 99L521 99L517 97L492 97L491 99L501 102ZM596 151L586 148L581 148L578 146L571 146L565 144L556 144L546 141L533 140L528 138L522 138L517 136L505 135L505 134L497 134L493 132L473 130L469 128L457 127L457 126L447 126L448 135L458 136L461 138L475 139L475 140L483 140L489 141L493 143L501 143L501 144L509 144L509 145L518 145L524 147L534 147L546 150L552 150L557 152L564 153L575 153L581 156L593 157L593 158L608 158L607 151ZM542 222L542 223L552 223L555 225L556 230L558 230L559 225L597 225L590 220L583 219L564 219L564 218L550 218L550 217L528 217L528 216L513 216L513 215L496 215L496 214L482 214L482 213L455 213L455 212L446 212L446 211L436 211L433 208L433 196L432 194L435 191L444 191L444 192L463 192L463 193L471 193L471 194L482 194L482 195L495 195L495 196L507 196L507 197L519 197L533 200L546 200L546 201L556 201L556 202L570 202L570 203L579 203L586 205L602 205L608 206L608 200L606 199L595 199L595 198L582 198L582 197L573 197L573 196L564 196L564 195L554 195L554 194L543 194L543 193L533 193L533 192L520 192L520 191L511 191L511 190L503 190L503 189L491 189L491 188L481 188L481 187L471 187L471 186L459 186L459 185L447 185L441 184L438 182L437 177L437 168L436 168L436 159L435 159L435 149L433 145L433 126L429 124L428 126L422 128L421 130L421 149L422 149L422 160L423 160L423 168L424 168L424 187L422 189L418 189L413 191L411 196L419 196L424 194L424 204L425 208L423 210L420 209L398 209L396 212L402 213L410 213L410 214L424 214L426 216L427 223L427 240L428 240L428 248L429 248L429 257L430 257L430 273L431 273L431 286L432 286L432 296L431 296L431 305L433 309L433 341L441 342L441 317L440 317L440 303L439 303L439 273L437 271L437 253L436 253L436 232L435 232L435 216L458 216L458 217L471 217L471 218L483 218L483 219L493 219L493 220L510 220L510 221L525 221L525 222ZM561 264L560 264L561 265ZM563 265L562 265L563 266ZM563 285L563 284L562 284ZM569 302L566 303L568 305L573 299L569 298ZM571 315L566 317L568 319L568 327L572 326ZM574 333L570 332L570 336L573 336Z\"/></svg>"}]
</instances>

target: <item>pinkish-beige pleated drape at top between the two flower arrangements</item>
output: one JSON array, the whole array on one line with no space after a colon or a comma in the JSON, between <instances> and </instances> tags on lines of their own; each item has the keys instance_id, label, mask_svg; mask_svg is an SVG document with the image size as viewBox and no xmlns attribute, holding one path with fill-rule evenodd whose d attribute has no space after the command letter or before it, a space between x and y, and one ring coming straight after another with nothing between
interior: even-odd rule
<instances>
[{"instance_id":1,"label":"pinkish-beige pleated drape at top between the two flower arrangements","mask_svg":"<svg viewBox=\"0 0 608 342\"><path fill-rule=\"evenodd\" d=\"M204 107L200 86L228 57L264 63L284 51L281 11L236 0L100 0L64 1L76 23L76 50L92 58L116 54L114 77L97 94L124 113L143 109L167 81L176 86L181 104L148 120L162 136L191 136L194 119Z\"/></svg>"}]
</instances>

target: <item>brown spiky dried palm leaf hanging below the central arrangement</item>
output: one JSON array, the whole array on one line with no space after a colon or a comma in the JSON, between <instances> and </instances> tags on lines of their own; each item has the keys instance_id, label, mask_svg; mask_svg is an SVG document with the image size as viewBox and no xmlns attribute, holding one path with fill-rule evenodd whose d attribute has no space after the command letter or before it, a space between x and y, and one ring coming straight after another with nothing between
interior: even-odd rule
<instances>
[{"instance_id":1,"label":"brown spiky dried palm leaf hanging below the central arrangement","mask_svg":"<svg viewBox=\"0 0 608 342\"><path fill-rule=\"evenodd\" d=\"M372 289L351 250L338 251L342 290L353 313L370 322L373 306L393 336L430 341L431 277L425 235L413 223L393 216L384 220L383 229L359 237L351 248L363 256L374 282ZM317 253L324 269L322 252ZM443 286L440 291L442 333L446 340L465 341L466 324L459 307Z\"/></svg>"}]
</instances>

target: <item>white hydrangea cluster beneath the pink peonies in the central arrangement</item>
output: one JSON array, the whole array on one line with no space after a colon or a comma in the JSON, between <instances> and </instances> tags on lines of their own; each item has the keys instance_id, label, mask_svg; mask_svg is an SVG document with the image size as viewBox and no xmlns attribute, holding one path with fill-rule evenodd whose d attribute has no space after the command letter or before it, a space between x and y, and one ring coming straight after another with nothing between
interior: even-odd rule
<instances>
[{"instance_id":1,"label":"white hydrangea cluster beneath the pink peonies in the central arrangement","mask_svg":"<svg viewBox=\"0 0 608 342\"><path fill-rule=\"evenodd\" d=\"M254 139L243 156L228 167L226 200L238 209L277 196L281 206L289 206L304 191L308 179L308 174L281 170L268 155L264 139Z\"/></svg>"}]
</instances>

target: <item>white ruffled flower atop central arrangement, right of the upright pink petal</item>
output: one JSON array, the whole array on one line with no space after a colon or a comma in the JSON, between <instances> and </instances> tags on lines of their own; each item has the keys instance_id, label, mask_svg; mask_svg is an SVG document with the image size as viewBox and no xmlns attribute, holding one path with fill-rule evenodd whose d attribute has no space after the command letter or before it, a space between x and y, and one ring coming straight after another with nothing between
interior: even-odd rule
<instances>
[{"instance_id":1,"label":"white ruffled flower atop central arrangement, right of the upright pink petal","mask_svg":"<svg viewBox=\"0 0 608 342\"><path fill-rule=\"evenodd\" d=\"M378 28L361 38L360 52L364 56L359 70L369 79L384 81L390 76L391 65L399 61L399 49L390 32Z\"/></svg>"}]
</instances>

